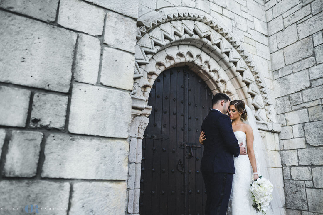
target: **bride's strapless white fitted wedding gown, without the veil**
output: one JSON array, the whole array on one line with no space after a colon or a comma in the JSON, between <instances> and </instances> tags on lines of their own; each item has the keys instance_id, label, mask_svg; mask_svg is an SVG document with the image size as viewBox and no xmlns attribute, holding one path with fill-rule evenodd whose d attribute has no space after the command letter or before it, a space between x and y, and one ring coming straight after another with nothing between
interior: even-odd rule
<instances>
[{"instance_id":1,"label":"bride's strapless white fitted wedding gown, without the veil","mask_svg":"<svg viewBox=\"0 0 323 215\"><path fill-rule=\"evenodd\" d=\"M235 131L238 143L243 143L246 147L246 135L243 131ZM235 174L233 174L232 190L227 215L256 215L252 207L251 192L249 190L252 183L252 167L248 155L239 155L234 158Z\"/></svg>"}]
</instances>

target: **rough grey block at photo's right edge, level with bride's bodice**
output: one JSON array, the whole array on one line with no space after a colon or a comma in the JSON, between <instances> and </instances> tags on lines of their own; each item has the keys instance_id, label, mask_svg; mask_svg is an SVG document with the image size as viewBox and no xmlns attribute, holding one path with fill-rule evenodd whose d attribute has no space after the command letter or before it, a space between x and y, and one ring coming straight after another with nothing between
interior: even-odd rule
<instances>
[{"instance_id":1,"label":"rough grey block at photo's right edge, level with bride's bodice","mask_svg":"<svg viewBox=\"0 0 323 215\"><path fill-rule=\"evenodd\" d=\"M320 107L320 106L317 106ZM321 108L321 107L320 107ZM322 146L323 121L305 123L305 137L308 144L312 146Z\"/></svg>"}]
</instances>

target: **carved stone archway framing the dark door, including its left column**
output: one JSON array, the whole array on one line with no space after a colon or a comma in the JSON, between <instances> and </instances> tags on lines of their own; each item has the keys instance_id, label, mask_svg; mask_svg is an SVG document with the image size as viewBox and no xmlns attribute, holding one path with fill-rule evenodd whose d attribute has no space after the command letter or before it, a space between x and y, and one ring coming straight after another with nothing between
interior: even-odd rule
<instances>
[{"instance_id":1,"label":"carved stone archway framing the dark door, including its left column","mask_svg":"<svg viewBox=\"0 0 323 215\"><path fill-rule=\"evenodd\" d=\"M157 13L157 14L156 14ZM155 19L156 18L156 19ZM128 209L139 212L143 132L151 107L148 97L162 71L189 66L215 94L241 99L254 111L263 130L280 132L273 105L252 57L240 41L210 15L192 8L163 8L138 19L128 179Z\"/></svg>"}]
</instances>

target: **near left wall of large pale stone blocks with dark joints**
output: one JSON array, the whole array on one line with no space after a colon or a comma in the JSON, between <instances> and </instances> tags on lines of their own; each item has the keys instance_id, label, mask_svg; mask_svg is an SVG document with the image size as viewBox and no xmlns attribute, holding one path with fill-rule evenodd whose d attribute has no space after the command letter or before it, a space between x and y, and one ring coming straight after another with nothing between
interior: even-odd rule
<instances>
[{"instance_id":1,"label":"near left wall of large pale stone blocks with dark joints","mask_svg":"<svg viewBox=\"0 0 323 215\"><path fill-rule=\"evenodd\" d=\"M137 16L0 1L0 214L124 214Z\"/></svg>"}]
</instances>

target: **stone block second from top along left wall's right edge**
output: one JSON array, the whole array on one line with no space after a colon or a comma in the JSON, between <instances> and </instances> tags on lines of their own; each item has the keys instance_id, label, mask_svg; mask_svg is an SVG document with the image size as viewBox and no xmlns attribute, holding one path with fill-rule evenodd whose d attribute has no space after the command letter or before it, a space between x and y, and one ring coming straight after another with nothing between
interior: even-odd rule
<instances>
[{"instance_id":1,"label":"stone block second from top along left wall's right edge","mask_svg":"<svg viewBox=\"0 0 323 215\"><path fill-rule=\"evenodd\" d=\"M104 30L105 44L135 53L136 34L135 20L114 12L107 13Z\"/></svg>"}]
</instances>

